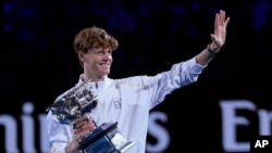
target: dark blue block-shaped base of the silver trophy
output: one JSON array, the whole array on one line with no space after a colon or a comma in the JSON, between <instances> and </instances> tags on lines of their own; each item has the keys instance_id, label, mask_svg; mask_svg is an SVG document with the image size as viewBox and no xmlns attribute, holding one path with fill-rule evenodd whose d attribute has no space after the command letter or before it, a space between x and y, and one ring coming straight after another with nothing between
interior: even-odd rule
<instances>
[{"instance_id":1,"label":"dark blue block-shaped base of the silver trophy","mask_svg":"<svg viewBox=\"0 0 272 153\"><path fill-rule=\"evenodd\" d=\"M135 142L127 141L119 132L118 123L103 124L79 142L79 150L84 153L124 153Z\"/></svg>"}]
</instances>

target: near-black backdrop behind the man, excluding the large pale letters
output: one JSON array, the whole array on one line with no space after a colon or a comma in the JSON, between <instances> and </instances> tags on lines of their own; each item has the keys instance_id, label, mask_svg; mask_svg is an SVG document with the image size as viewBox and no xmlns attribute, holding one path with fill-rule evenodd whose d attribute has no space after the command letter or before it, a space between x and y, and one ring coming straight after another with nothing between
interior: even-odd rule
<instances>
[{"instance_id":1,"label":"near-black backdrop behind the man, excluding the large pale letters","mask_svg":"<svg viewBox=\"0 0 272 153\"><path fill-rule=\"evenodd\" d=\"M35 104L34 116L45 113L77 82L82 68L72 42L84 27L103 27L119 40L110 77L154 75L207 47L220 9L231 16L222 51L196 84L153 110L169 115L165 152L223 152L220 100L246 99L259 109L272 107L272 1L5 0L1 8L0 115L20 120L26 101ZM245 138L257 130L246 130Z\"/></svg>"}]
</instances>

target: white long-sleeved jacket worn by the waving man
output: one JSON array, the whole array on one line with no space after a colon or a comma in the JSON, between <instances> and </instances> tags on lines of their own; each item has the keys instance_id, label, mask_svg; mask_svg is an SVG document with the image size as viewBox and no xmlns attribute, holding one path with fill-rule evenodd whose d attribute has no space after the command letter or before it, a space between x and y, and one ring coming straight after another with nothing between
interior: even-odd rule
<instances>
[{"instance_id":1,"label":"white long-sleeved jacket worn by the waving man","mask_svg":"<svg viewBox=\"0 0 272 153\"><path fill-rule=\"evenodd\" d=\"M156 76L106 77L103 81L89 82L98 95L92 117L97 126L118 122L121 133L136 143L127 153L145 153L150 110L161 103L166 94L195 82L205 67L193 58ZM81 79L78 84L82 84ZM47 115L47 122L51 152L64 153L65 145L73 139L72 126L61 125L51 112Z\"/></svg>"}]
</instances>

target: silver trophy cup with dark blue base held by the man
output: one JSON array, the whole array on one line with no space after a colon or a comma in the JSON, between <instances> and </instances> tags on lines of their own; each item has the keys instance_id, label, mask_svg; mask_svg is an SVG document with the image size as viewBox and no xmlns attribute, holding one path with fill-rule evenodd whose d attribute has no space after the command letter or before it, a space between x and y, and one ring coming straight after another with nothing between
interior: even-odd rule
<instances>
[{"instance_id":1,"label":"silver trophy cup with dark blue base held by the man","mask_svg":"<svg viewBox=\"0 0 272 153\"><path fill-rule=\"evenodd\" d=\"M91 91L89 81L75 86L57 99L47 112L51 111L61 124L73 125L81 117L95 123L91 110L96 107L98 97ZM84 153L124 153L134 144L122 136L118 123L104 123L78 142L78 150Z\"/></svg>"}]
</instances>

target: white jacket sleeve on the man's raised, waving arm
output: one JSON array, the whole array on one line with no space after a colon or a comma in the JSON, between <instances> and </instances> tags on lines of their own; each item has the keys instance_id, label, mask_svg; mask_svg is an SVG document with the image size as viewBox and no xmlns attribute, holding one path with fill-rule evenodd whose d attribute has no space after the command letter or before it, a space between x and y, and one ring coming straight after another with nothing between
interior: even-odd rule
<instances>
[{"instance_id":1,"label":"white jacket sleeve on the man's raised, waving arm","mask_svg":"<svg viewBox=\"0 0 272 153\"><path fill-rule=\"evenodd\" d=\"M202 66L196 62L196 58L174 64L170 71L160 73L149 78L149 85L153 84L151 109L161 103L166 94L184 86L196 82L201 74Z\"/></svg>"}]
</instances>

